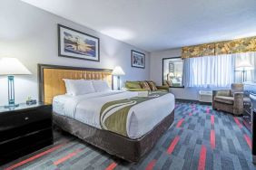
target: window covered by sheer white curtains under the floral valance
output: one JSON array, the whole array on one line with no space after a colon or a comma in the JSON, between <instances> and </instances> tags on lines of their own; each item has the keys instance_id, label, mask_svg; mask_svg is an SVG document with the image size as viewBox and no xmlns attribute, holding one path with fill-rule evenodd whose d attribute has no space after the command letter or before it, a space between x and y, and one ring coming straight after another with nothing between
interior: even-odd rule
<instances>
[{"instance_id":1,"label":"window covered by sheer white curtains under the floral valance","mask_svg":"<svg viewBox=\"0 0 256 170\"><path fill-rule=\"evenodd\" d=\"M231 83L255 80L255 52L185 59L184 85L226 88Z\"/></svg>"}]
</instances>

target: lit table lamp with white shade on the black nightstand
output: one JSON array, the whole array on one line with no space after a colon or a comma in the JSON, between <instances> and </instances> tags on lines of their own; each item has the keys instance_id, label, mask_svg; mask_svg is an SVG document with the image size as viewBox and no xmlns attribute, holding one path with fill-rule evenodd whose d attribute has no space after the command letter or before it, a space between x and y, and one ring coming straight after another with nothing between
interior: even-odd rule
<instances>
[{"instance_id":1,"label":"lit table lamp with white shade on the black nightstand","mask_svg":"<svg viewBox=\"0 0 256 170\"><path fill-rule=\"evenodd\" d=\"M15 58L0 58L0 75L8 76L8 100L9 105L5 109L18 107L15 104L15 75L31 74L22 62Z\"/></svg>"}]
</instances>

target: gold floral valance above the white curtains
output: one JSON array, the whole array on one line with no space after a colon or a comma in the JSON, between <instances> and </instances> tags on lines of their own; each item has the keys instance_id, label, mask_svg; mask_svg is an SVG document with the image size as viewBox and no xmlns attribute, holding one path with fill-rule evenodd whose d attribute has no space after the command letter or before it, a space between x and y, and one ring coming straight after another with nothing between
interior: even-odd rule
<instances>
[{"instance_id":1,"label":"gold floral valance above the white curtains","mask_svg":"<svg viewBox=\"0 0 256 170\"><path fill-rule=\"evenodd\" d=\"M240 52L256 52L256 37L183 47L182 58L202 57L209 55Z\"/></svg>"}]
</instances>

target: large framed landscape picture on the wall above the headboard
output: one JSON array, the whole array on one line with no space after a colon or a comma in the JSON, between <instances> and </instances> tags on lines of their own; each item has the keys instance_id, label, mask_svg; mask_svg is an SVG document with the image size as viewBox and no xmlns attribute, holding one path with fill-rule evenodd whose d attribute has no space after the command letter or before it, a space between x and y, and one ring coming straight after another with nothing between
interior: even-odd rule
<instances>
[{"instance_id":1,"label":"large framed landscape picture on the wall above the headboard","mask_svg":"<svg viewBox=\"0 0 256 170\"><path fill-rule=\"evenodd\" d=\"M58 24L59 56L100 61L100 40L92 35Z\"/></svg>"}]
</instances>

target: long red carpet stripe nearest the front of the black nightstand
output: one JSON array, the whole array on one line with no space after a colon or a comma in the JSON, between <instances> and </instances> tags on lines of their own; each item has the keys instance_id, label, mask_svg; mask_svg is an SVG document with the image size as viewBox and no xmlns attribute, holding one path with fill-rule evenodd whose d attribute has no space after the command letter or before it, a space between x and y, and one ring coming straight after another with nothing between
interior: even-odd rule
<instances>
[{"instance_id":1,"label":"long red carpet stripe nearest the front of the black nightstand","mask_svg":"<svg viewBox=\"0 0 256 170\"><path fill-rule=\"evenodd\" d=\"M25 160L22 161L22 162L19 162L19 163L15 164L15 165L12 165L12 166L10 166L10 167L7 167L7 168L5 168L5 170L12 170L12 169L15 169L15 168L18 167L18 166L25 165L26 163L31 162L31 161L33 161L34 159L37 159L37 158L39 158L39 157L41 157L41 156L44 156L44 155L46 155L46 154L49 154L49 153L51 153L51 152L54 152L55 150L57 150L58 148L60 148L60 147L62 147L62 146L64 146L64 145L66 145L66 143L61 144L61 145L58 145L58 146L54 146L53 148L48 149L48 150L46 150L46 151L44 151L44 152L42 152L42 153L40 153L40 154L38 154L38 155L29 157L29 158L25 159Z\"/></svg>"}]
</instances>

